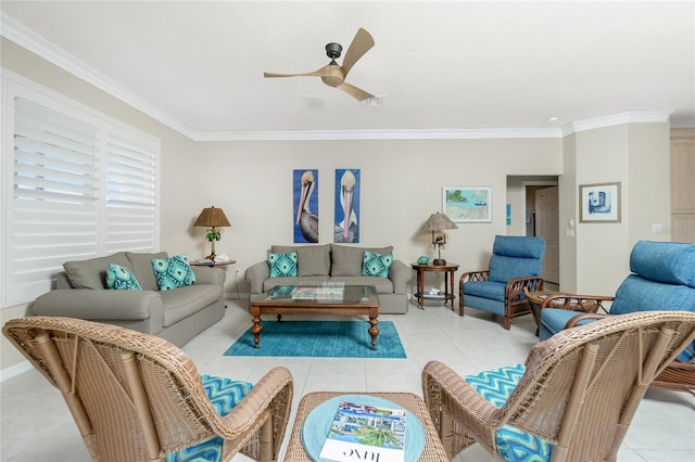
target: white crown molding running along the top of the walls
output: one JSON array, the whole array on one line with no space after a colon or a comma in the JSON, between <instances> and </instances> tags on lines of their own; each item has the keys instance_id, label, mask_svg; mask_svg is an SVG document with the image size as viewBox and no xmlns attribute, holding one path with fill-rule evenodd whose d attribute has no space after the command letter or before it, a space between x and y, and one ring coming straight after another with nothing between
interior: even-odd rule
<instances>
[{"instance_id":1,"label":"white crown molding running along the top of the walls","mask_svg":"<svg viewBox=\"0 0 695 462\"><path fill-rule=\"evenodd\" d=\"M548 128L393 129L393 130L258 130L200 131L164 113L128 88L88 66L0 12L0 35L49 63L135 107L193 141L307 141L307 140L477 140L564 138L569 134L634 123L666 123L673 111L629 111Z\"/></svg>"}]
</instances>

